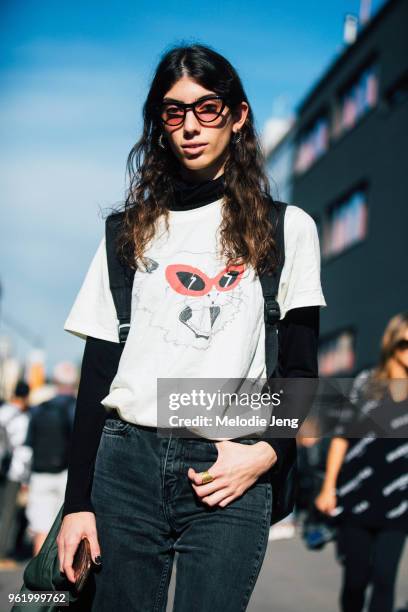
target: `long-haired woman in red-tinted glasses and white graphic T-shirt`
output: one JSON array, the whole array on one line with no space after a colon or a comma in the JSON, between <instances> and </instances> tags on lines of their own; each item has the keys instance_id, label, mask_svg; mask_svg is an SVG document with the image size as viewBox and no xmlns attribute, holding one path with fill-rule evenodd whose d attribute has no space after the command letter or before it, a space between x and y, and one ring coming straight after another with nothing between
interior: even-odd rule
<instances>
[{"instance_id":1,"label":"long-haired woman in red-tinted glasses and white graphic T-shirt","mask_svg":"<svg viewBox=\"0 0 408 612\"><path fill-rule=\"evenodd\" d=\"M177 551L175 609L236 612L246 609L265 555L269 471L279 469L286 440L160 437L156 384L264 376L255 270L276 263L268 182L242 83L212 49L166 53L143 117L119 242L137 269L118 371L104 240L65 324L86 345L60 564L73 580L73 554L87 535L93 557L103 559L92 610L150 612L166 608ZM316 376L325 304L316 227L289 206L284 228L280 368L284 376Z\"/></svg>"}]
</instances>

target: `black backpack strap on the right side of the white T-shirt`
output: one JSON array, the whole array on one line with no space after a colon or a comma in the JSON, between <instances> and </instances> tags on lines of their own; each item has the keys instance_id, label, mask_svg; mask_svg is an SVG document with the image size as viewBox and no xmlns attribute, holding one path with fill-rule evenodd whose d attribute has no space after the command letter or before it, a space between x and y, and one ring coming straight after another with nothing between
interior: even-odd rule
<instances>
[{"instance_id":1,"label":"black backpack strap on the right side of the white T-shirt","mask_svg":"<svg viewBox=\"0 0 408 612\"><path fill-rule=\"evenodd\" d=\"M280 308L276 298L285 263L284 219L286 206L284 202L278 202L270 198L269 219L274 227L278 263L272 275L261 274L259 277L264 297L265 361L268 379L276 374L278 365L277 323L280 319Z\"/></svg>"}]
</instances>

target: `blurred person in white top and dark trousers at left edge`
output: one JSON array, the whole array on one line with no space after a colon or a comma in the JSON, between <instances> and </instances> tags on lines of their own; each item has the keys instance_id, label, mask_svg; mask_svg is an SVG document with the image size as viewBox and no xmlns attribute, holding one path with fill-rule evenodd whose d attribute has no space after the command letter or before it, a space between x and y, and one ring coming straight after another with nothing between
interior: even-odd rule
<instances>
[{"instance_id":1,"label":"blurred person in white top and dark trousers at left edge","mask_svg":"<svg viewBox=\"0 0 408 612\"><path fill-rule=\"evenodd\" d=\"M31 451L25 446L30 387L19 381L9 402L0 407L0 560L14 553L17 496L26 489Z\"/></svg>"}]
</instances>

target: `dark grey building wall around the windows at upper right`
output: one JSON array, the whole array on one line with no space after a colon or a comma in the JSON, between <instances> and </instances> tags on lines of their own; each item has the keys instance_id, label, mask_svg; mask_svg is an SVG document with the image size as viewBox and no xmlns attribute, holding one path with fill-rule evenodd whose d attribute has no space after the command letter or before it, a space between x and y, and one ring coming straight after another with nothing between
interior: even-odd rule
<instances>
[{"instance_id":1,"label":"dark grey building wall around the windows at upper right","mask_svg":"<svg viewBox=\"0 0 408 612\"><path fill-rule=\"evenodd\" d=\"M408 2L389 2L330 68L299 109L301 131L371 55L379 65L379 98L349 132L304 174L295 176L293 203L318 219L354 186L367 185L364 241L325 261L321 335L356 330L354 371L375 363L383 329L408 310L408 101L388 106L390 87L408 70Z\"/></svg>"}]
</instances>

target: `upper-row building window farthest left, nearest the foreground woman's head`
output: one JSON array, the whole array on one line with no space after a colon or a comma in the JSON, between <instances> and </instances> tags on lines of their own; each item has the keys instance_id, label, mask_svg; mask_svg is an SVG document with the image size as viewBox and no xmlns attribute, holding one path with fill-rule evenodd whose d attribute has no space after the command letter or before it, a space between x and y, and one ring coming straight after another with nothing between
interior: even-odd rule
<instances>
[{"instance_id":1,"label":"upper-row building window farthest left, nearest the foreground woman's head","mask_svg":"<svg viewBox=\"0 0 408 612\"><path fill-rule=\"evenodd\" d=\"M305 172L329 147L329 122L326 116L319 117L299 138L295 172Z\"/></svg>"}]
</instances>

